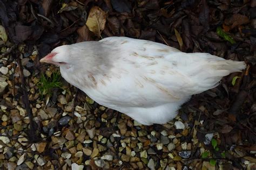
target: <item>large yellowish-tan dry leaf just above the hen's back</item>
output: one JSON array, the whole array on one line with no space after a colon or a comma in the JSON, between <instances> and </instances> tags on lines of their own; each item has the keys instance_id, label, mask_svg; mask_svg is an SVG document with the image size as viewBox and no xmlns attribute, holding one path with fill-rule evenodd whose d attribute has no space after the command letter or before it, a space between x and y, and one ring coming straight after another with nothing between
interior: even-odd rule
<instances>
[{"instance_id":1,"label":"large yellowish-tan dry leaf just above the hen's back","mask_svg":"<svg viewBox=\"0 0 256 170\"><path fill-rule=\"evenodd\" d=\"M89 30L100 37L100 32L105 29L107 13L98 6L93 6L89 12L86 25Z\"/></svg>"}]
</instances>

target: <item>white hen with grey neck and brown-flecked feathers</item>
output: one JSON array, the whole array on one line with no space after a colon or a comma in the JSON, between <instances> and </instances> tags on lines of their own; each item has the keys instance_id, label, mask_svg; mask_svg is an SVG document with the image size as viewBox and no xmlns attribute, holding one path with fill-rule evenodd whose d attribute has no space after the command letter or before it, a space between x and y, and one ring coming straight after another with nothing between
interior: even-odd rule
<instances>
[{"instance_id":1,"label":"white hen with grey neck and brown-flecked feathers","mask_svg":"<svg viewBox=\"0 0 256 170\"><path fill-rule=\"evenodd\" d=\"M66 81L97 103L144 125L170 121L191 95L246 67L242 61L126 37L59 46L40 61L58 65Z\"/></svg>"}]
</instances>

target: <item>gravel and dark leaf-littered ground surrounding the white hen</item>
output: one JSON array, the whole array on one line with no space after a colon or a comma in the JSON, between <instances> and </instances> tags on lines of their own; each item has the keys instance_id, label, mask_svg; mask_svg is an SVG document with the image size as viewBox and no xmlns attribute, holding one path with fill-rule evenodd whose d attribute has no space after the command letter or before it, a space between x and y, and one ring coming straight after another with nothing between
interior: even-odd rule
<instances>
[{"instance_id":1,"label":"gravel and dark leaf-littered ground surrounding the white hen","mask_svg":"<svg viewBox=\"0 0 256 170\"><path fill-rule=\"evenodd\" d=\"M1 169L256 169L255 0L2 0L0 18ZM56 46L111 36L248 66L172 122L143 126L39 63Z\"/></svg>"}]
</instances>

